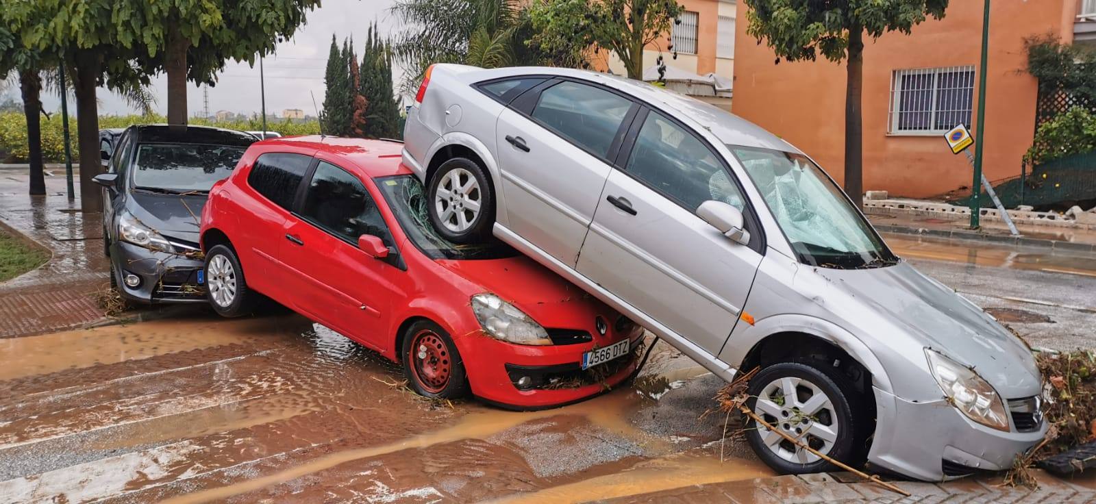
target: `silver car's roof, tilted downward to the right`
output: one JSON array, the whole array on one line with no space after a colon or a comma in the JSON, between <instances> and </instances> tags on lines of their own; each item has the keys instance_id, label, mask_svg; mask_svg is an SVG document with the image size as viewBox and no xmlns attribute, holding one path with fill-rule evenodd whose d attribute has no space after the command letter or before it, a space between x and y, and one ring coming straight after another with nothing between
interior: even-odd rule
<instances>
[{"instance_id":1,"label":"silver car's roof, tilted downward to the right","mask_svg":"<svg viewBox=\"0 0 1096 504\"><path fill-rule=\"evenodd\" d=\"M780 137L730 112L676 91L636 79L627 79L590 70L556 67L507 67L498 69L481 69L463 65L445 65L445 67L455 77L468 83L487 79L529 75L568 77L596 82L635 96L655 108L662 108L664 112L680 119L695 121L703 128L711 131L723 144L800 152L799 149Z\"/></svg>"}]
</instances>

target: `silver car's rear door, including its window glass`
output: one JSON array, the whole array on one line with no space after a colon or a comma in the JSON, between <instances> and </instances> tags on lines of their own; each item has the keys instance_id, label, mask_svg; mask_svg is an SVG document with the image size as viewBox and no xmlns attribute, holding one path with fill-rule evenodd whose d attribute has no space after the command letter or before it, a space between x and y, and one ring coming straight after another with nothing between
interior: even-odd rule
<instances>
[{"instance_id":1,"label":"silver car's rear door, including its window glass","mask_svg":"<svg viewBox=\"0 0 1096 504\"><path fill-rule=\"evenodd\" d=\"M495 130L510 230L573 266L637 110L620 94L569 80L511 103Z\"/></svg>"}]
</instances>

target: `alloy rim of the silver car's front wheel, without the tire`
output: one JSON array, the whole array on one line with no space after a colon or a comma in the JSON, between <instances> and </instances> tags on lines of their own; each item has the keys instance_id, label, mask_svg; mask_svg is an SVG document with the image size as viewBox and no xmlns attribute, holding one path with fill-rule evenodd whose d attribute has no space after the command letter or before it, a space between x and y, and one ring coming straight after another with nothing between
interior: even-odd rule
<instances>
[{"instance_id":1,"label":"alloy rim of the silver car's front wheel, without the tire","mask_svg":"<svg viewBox=\"0 0 1096 504\"><path fill-rule=\"evenodd\" d=\"M833 401L817 385L802 378L770 381L757 394L754 410L769 425L823 455L833 448L841 432ZM762 443L784 460L811 463L821 459L761 424L757 432Z\"/></svg>"}]
</instances>

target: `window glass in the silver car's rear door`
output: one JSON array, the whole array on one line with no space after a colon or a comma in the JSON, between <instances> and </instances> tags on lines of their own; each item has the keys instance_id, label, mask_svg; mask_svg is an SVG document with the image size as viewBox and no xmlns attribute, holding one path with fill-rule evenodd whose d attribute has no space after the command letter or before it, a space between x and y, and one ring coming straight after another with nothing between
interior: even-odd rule
<instances>
[{"instance_id":1,"label":"window glass in the silver car's rear door","mask_svg":"<svg viewBox=\"0 0 1096 504\"><path fill-rule=\"evenodd\" d=\"M533 117L545 127L605 158L632 102L593 85L560 82L544 90Z\"/></svg>"}]
</instances>

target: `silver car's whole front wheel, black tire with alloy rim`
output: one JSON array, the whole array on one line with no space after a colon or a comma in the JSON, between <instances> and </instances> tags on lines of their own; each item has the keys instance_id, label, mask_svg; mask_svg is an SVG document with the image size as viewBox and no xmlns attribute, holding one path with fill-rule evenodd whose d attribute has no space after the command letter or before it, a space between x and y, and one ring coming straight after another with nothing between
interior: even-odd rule
<instances>
[{"instance_id":1,"label":"silver car's whole front wheel, black tire with alloy rim","mask_svg":"<svg viewBox=\"0 0 1096 504\"><path fill-rule=\"evenodd\" d=\"M795 398L785 393L791 386ZM817 396L821 393L821 398ZM852 467L863 466L871 434L861 394L840 370L807 363L768 366L750 380L746 405L770 425ZM811 399L814 398L814 401ZM814 410L806 411L803 406ZM798 429L798 431L797 431ZM746 417L746 440L757 457L783 474L841 470ZM827 439L829 438L829 439Z\"/></svg>"}]
</instances>

